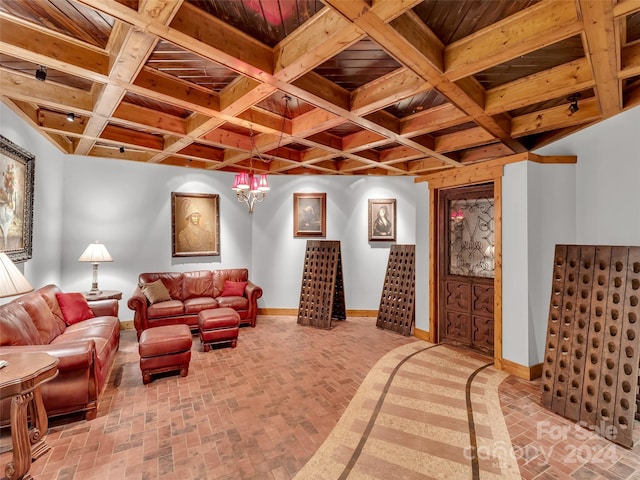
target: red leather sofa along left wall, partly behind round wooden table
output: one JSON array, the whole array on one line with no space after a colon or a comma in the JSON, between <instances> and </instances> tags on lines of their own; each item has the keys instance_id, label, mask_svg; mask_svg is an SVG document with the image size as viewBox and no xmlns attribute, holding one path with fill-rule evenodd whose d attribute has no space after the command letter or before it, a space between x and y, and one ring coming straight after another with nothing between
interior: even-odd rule
<instances>
[{"instance_id":1,"label":"red leather sofa along left wall, partly behind round wooden table","mask_svg":"<svg viewBox=\"0 0 640 480\"><path fill-rule=\"evenodd\" d=\"M120 346L118 301L91 302L94 318L67 325L56 293L62 293L58 286L47 285L0 305L0 352L57 357L58 376L42 386L47 415L85 412L92 420ZM3 425L9 402L0 405Z\"/></svg>"}]
</instances>

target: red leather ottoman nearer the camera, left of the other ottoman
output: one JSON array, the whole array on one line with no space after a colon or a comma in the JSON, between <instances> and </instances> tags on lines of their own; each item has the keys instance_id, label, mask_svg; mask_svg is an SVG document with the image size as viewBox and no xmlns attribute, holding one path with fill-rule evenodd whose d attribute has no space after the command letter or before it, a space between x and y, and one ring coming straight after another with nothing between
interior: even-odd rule
<instances>
[{"instance_id":1,"label":"red leather ottoman nearer the camera, left of the other ottoman","mask_svg":"<svg viewBox=\"0 0 640 480\"><path fill-rule=\"evenodd\" d=\"M149 383L154 373L174 370L186 377L191 361L191 330L186 325L148 328L140 334L138 352L142 383Z\"/></svg>"}]
</instances>

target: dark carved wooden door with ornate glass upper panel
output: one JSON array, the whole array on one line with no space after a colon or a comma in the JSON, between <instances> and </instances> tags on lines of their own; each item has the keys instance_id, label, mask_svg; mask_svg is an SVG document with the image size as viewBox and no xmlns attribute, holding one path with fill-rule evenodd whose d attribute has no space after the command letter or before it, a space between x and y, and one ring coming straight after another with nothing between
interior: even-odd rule
<instances>
[{"instance_id":1,"label":"dark carved wooden door with ornate glass upper panel","mask_svg":"<svg viewBox=\"0 0 640 480\"><path fill-rule=\"evenodd\" d=\"M493 355L493 184L441 190L439 341Z\"/></svg>"}]
</instances>

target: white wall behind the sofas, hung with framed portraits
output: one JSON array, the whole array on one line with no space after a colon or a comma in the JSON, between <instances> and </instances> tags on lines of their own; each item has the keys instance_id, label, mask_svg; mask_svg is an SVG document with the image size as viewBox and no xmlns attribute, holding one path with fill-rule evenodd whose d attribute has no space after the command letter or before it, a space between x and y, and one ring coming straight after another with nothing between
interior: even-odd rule
<instances>
[{"instance_id":1,"label":"white wall behind the sofas, hung with framed portraits","mask_svg":"<svg viewBox=\"0 0 640 480\"><path fill-rule=\"evenodd\" d=\"M273 175L271 192L249 215L231 190L231 173L63 157L23 120L1 108L3 135L9 136L4 132L10 124L15 132L10 139L21 146L37 145L38 241L34 258L26 262L27 278L36 287L56 283L66 291L88 290L91 265L77 260L89 243L99 240L114 258L100 264L99 286L123 292L122 320L132 318L126 300L138 275L155 271L246 267L264 290L261 308L297 309L306 239L293 238L294 192L327 194L325 239L341 241L346 307L377 310L391 243L368 241L368 199L397 199L397 244L416 243L416 202L428 202L424 185L409 177ZM220 195L220 256L171 256L171 192ZM428 205L421 208L428 211ZM428 278L426 261L418 272ZM428 311L417 315L424 322L420 328L427 328Z\"/></svg>"}]
</instances>

